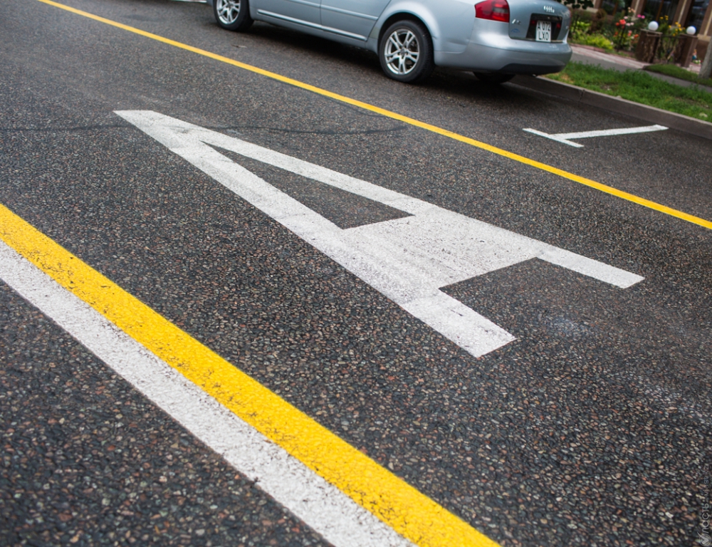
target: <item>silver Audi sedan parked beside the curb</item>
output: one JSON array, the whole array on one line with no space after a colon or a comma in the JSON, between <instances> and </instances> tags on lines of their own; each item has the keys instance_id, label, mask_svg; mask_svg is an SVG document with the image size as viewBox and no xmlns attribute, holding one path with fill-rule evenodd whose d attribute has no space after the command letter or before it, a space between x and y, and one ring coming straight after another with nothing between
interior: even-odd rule
<instances>
[{"instance_id":1,"label":"silver Audi sedan parked beside the curb","mask_svg":"<svg viewBox=\"0 0 712 547\"><path fill-rule=\"evenodd\" d=\"M436 66L473 71L501 83L515 74L564 68L571 16L554 0L208 0L219 26L246 31L253 21L293 28L377 53L401 82Z\"/></svg>"}]
</instances>

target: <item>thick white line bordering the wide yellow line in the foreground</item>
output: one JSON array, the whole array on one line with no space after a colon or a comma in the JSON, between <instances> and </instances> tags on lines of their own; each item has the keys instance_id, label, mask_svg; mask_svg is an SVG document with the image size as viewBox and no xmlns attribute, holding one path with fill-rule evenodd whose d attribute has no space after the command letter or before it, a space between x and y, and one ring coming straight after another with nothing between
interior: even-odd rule
<instances>
[{"instance_id":1,"label":"thick white line bordering the wide yellow line in the foreground","mask_svg":"<svg viewBox=\"0 0 712 547\"><path fill-rule=\"evenodd\" d=\"M337 547L412 547L0 240L0 279Z\"/></svg>"}]
</instances>

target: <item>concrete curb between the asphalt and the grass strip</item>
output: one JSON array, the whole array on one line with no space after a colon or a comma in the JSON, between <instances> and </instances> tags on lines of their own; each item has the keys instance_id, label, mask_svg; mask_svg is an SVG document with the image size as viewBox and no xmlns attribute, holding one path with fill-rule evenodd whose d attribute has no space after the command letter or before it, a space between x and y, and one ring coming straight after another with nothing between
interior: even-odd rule
<instances>
[{"instance_id":1,"label":"concrete curb between the asphalt and the grass strip","mask_svg":"<svg viewBox=\"0 0 712 547\"><path fill-rule=\"evenodd\" d=\"M579 88L576 85L548 80L546 78L534 78L533 76L517 76L512 80L512 83L521 85L524 88L533 89L549 95L556 95L564 99L572 100L575 103L595 106L609 112L632 116L646 122L664 125L671 129L676 129L702 137L703 139L712 140L712 123L696 120L689 116L675 114L660 108L634 103L632 100L620 99L591 91L584 88Z\"/></svg>"}]
</instances>

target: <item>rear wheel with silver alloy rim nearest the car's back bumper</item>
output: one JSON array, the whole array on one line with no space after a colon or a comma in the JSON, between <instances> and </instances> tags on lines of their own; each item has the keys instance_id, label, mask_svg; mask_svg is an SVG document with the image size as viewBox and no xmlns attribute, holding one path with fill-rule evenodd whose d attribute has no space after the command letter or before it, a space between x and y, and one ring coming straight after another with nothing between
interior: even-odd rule
<instances>
[{"instance_id":1,"label":"rear wheel with silver alloy rim nearest the car's back bumper","mask_svg":"<svg viewBox=\"0 0 712 547\"><path fill-rule=\"evenodd\" d=\"M378 47L381 68L389 78L404 83L425 80L435 68L433 43L417 21L397 21L383 33Z\"/></svg>"}]
</instances>

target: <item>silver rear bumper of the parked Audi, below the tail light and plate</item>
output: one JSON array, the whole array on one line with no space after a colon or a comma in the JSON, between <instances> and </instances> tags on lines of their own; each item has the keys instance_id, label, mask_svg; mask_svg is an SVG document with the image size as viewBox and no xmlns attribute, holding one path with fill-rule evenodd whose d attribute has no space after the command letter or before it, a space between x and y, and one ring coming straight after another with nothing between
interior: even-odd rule
<instances>
[{"instance_id":1,"label":"silver rear bumper of the parked Audi, below the tail light and plate","mask_svg":"<svg viewBox=\"0 0 712 547\"><path fill-rule=\"evenodd\" d=\"M508 24L478 20L465 51L435 51L435 64L479 72L548 74L561 71L571 53L565 42L513 39Z\"/></svg>"}]
</instances>

